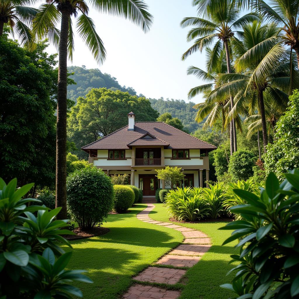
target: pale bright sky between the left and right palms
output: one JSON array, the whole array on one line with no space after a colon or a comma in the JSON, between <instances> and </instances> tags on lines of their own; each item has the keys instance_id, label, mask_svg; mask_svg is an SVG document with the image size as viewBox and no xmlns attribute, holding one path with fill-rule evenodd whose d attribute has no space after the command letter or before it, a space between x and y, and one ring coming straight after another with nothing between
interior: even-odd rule
<instances>
[{"instance_id":1,"label":"pale bright sky between the left and right palms","mask_svg":"<svg viewBox=\"0 0 299 299\"><path fill-rule=\"evenodd\" d=\"M187 101L190 88L201 84L195 76L187 76L187 67L204 68L205 54L195 53L181 61L181 55L192 43L186 42L188 29L182 29L179 24L184 17L196 16L196 7L192 7L191 0L145 1L154 16L153 25L146 34L129 20L90 9L89 16L107 51L106 61L98 65L76 36L73 62L69 61L68 65L99 68L116 77L120 85L131 86L137 94L146 97ZM57 50L51 46L48 52L56 53ZM192 101L202 102L202 97L197 96Z\"/></svg>"}]
</instances>

